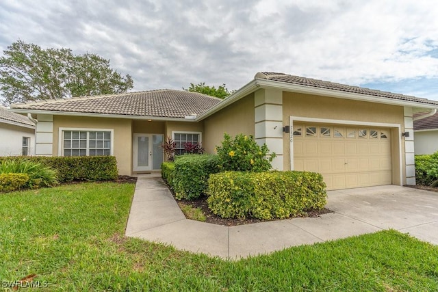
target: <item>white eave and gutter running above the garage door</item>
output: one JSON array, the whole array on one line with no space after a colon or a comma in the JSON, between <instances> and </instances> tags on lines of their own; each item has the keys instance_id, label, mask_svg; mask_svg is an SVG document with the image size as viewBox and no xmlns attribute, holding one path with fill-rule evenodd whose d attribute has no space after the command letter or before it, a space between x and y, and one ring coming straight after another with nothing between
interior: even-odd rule
<instances>
[{"instance_id":1,"label":"white eave and gutter running above the garage door","mask_svg":"<svg viewBox=\"0 0 438 292\"><path fill-rule=\"evenodd\" d=\"M331 90L326 88L315 88L307 85L298 85L285 83L281 81L255 79L260 88L273 88L285 91L298 92L302 94L316 94L320 96L329 96L335 98L351 99L355 101L368 101L372 103L383 103L386 105L401 105L407 107L420 107L424 109L438 109L438 105L430 105L428 103L420 103L416 101L402 101L395 98L388 98L383 96L375 96L368 94L359 94L353 92L344 92L342 90Z\"/></svg>"}]
</instances>

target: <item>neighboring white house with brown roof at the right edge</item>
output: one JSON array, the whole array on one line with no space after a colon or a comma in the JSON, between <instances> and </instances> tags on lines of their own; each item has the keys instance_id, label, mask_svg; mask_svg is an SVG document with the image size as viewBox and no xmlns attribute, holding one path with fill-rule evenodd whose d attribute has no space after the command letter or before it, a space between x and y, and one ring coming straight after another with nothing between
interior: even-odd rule
<instances>
[{"instance_id":1,"label":"neighboring white house with brown roof at the right edge","mask_svg":"<svg viewBox=\"0 0 438 292\"><path fill-rule=\"evenodd\" d=\"M416 114L413 120L415 155L433 154L438 151L438 114L422 118L423 114Z\"/></svg>"}]
</instances>

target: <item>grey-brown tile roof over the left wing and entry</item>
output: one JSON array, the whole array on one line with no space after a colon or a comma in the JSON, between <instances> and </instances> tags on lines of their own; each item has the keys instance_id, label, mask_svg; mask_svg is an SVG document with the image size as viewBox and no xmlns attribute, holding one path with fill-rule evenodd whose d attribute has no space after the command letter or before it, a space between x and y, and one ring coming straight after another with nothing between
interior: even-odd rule
<instances>
[{"instance_id":1,"label":"grey-brown tile roof over the left wing and entry","mask_svg":"<svg viewBox=\"0 0 438 292\"><path fill-rule=\"evenodd\" d=\"M11 105L13 109L64 111L82 114L108 114L160 118L184 118L203 114L220 98L183 90L151 90L101 96L40 101Z\"/></svg>"}]
</instances>

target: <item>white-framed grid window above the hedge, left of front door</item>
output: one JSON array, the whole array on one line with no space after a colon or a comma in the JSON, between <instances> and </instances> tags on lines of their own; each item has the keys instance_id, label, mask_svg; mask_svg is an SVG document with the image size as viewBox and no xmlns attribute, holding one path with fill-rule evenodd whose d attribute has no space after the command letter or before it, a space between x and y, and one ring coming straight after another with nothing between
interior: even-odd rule
<instances>
[{"instance_id":1,"label":"white-framed grid window above the hedge, left of front door","mask_svg":"<svg viewBox=\"0 0 438 292\"><path fill-rule=\"evenodd\" d=\"M111 155L111 131L62 131L64 156Z\"/></svg>"}]
</instances>

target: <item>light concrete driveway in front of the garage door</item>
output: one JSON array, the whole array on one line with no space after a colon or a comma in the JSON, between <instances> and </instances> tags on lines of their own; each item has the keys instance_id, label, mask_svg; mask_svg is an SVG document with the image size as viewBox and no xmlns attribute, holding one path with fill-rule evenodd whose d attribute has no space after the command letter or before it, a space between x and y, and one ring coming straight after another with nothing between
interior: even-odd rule
<instances>
[{"instance_id":1,"label":"light concrete driveway in front of the garage door","mask_svg":"<svg viewBox=\"0 0 438 292\"><path fill-rule=\"evenodd\" d=\"M437 192L383 185L327 193L327 208L339 215L438 244Z\"/></svg>"}]
</instances>

